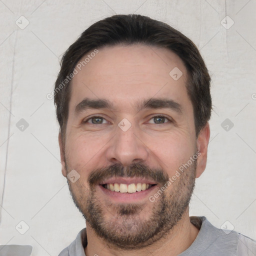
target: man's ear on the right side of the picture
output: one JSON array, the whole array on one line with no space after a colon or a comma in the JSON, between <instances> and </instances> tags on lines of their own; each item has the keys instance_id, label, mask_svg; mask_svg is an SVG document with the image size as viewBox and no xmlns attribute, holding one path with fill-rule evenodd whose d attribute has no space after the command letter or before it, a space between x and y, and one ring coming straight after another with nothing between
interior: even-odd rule
<instances>
[{"instance_id":1,"label":"man's ear on the right side of the picture","mask_svg":"<svg viewBox=\"0 0 256 256\"><path fill-rule=\"evenodd\" d=\"M210 128L209 123L207 122L206 125L201 129L200 133L197 137L197 166L196 166L196 178L198 178L206 167L207 161L207 149L210 137Z\"/></svg>"}]
</instances>

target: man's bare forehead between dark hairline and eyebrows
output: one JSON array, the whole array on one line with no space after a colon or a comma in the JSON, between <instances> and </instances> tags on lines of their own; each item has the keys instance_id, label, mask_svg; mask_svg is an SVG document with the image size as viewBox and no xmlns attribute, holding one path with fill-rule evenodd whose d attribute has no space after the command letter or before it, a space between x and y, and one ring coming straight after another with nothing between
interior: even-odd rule
<instances>
[{"instance_id":1,"label":"man's bare forehead between dark hairline and eyebrows","mask_svg":"<svg viewBox=\"0 0 256 256\"><path fill-rule=\"evenodd\" d=\"M69 110L74 109L84 97L106 98L119 104L125 102L126 107L129 102L154 96L189 101L185 66L175 53L166 48L140 44L105 46L99 48L89 61L87 58L80 70L77 67L76 70L78 73L71 82ZM173 79L172 70L177 76L182 73L179 79Z\"/></svg>"}]
</instances>

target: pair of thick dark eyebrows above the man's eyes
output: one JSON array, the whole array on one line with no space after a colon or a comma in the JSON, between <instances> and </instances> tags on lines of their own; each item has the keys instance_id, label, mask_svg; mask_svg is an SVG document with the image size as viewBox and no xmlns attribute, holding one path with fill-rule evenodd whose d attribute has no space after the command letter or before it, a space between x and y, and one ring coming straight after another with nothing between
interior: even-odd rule
<instances>
[{"instance_id":1,"label":"pair of thick dark eyebrows above the man's eyes","mask_svg":"<svg viewBox=\"0 0 256 256\"><path fill-rule=\"evenodd\" d=\"M84 98L80 103L75 107L75 114L78 115L80 112L83 112L86 109L101 109L109 108L113 109L113 105L110 101L106 99L89 99ZM183 107L176 101L169 98L149 98L144 99L141 102L135 104L137 111L140 111L144 108L170 108L178 113L183 113Z\"/></svg>"}]
</instances>

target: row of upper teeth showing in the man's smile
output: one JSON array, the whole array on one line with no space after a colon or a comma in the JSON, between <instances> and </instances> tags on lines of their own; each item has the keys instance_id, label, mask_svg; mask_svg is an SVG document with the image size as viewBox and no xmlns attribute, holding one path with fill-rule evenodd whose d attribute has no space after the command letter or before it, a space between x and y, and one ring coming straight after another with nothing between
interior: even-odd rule
<instances>
[{"instance_id":1,"label":"row of upper teeth showing in the man's smile","mask_svg":"<svg viewBox=\"0 0 256 256\"><path fill-rule=\"evenodd\" d=\"M104 185L105 188L121 193L134 193L136 191L146 190L151 184L146 183L131 183L131 184L123 184L123 183L107 183Z\"/></svg>"}]
</instances>

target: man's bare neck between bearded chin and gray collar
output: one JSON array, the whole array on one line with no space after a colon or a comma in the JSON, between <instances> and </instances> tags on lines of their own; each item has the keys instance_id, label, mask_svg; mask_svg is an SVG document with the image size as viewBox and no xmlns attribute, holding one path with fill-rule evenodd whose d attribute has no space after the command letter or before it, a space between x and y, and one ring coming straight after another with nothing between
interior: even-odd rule
<instances>
[{"instance_id":1,"label":"man's bare neck between bearded chin and gray collar","mask_svg":"<svg viewBox=\"0 0 256 256\"><path fill-rule=\"evenodd\" d=\"M137 250L120 250L97 236L86 221L87 246L84 248L86 256L146 256L148 252L158 256L174 256L186 250L196 238L199 230L190 223L188 208L179 222L160 240ZM149 253L150 254L150 253Z\"/></svg>"}]
</instances>

